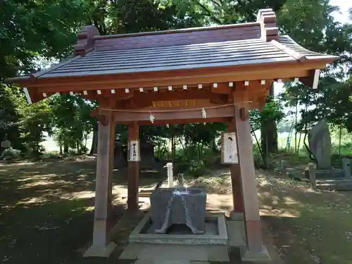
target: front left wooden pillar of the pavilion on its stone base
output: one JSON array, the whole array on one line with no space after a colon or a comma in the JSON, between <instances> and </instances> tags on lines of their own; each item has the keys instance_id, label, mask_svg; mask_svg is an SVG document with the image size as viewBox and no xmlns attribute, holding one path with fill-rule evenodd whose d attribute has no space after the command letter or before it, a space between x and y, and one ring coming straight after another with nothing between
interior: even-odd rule
<instances>
[{"instance_id":1,"label":"front left wooden pillar of the pavilion on its stone base","mask_svg":"<svg viewBox=\"0 0 352 264\"><path fill-rule=\"evenodd\" d=\"M115 144L113 138L115 138L113 118L107 115L99 115L93 245L84 253L84 256L108 257L116 246L109 241L107 225L111 209L110 186L113 155L111 145Z\"/></svg>"}]
</instances>

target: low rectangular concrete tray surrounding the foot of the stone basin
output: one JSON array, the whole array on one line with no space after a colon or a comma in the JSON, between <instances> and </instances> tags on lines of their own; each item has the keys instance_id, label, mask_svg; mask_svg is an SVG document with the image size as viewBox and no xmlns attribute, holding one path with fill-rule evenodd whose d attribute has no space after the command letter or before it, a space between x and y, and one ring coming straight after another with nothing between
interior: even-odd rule
<instances>
[{"instance_id":1,"label":"low rectangular concrete tray surrounding the foot of the stone basin","mask_svg":"<svg viewBox=\"0 0 352 264\"><path fill-rule=\"evenodd\" d=\"M227 229L225 215L207 214L205 234L153 234L150 230L151 215L147 214L129 237L130 243L146 244L203 244L203 245L227 245Z\"/></svg>"}]
</instances>

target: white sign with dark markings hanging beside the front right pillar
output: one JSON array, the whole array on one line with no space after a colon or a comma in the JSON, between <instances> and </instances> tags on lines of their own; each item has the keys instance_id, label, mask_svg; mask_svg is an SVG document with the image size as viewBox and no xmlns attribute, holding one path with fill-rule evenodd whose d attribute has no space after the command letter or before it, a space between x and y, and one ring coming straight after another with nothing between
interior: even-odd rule
<instances>
[{"instance_id":1,"label":"white sign with dark markings hanging beside the front right pillar","mask_svg":"<svg viewBox=\"0 0 352 264\"><path fill-rule=\"evenodd\" d=\"M221 162L228 164L239 163L239 156L237 153L237 137L235 132L222 133Z\"/></svg>"}]
</instances>

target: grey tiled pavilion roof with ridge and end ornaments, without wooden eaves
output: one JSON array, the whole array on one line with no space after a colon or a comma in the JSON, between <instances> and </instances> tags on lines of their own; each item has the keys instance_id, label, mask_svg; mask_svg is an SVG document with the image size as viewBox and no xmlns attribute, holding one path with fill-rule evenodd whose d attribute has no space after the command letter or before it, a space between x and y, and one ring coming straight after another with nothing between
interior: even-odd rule
<instances>
[{"instance_id":1,"label":"grey tiled pavilion roof with ridge and end ornaments, without wooden eaves","mask_svg":"<svg viewBox=\"0 0 352 264\"><path fill-rule=\"evenodd\" d=\"M46 70L10 79L112 75L325 59L288 36L279 37L276 16L260 10L256 23L99 36L94 26L77 34L74 56Z\"/></svg>"}]
</instances>

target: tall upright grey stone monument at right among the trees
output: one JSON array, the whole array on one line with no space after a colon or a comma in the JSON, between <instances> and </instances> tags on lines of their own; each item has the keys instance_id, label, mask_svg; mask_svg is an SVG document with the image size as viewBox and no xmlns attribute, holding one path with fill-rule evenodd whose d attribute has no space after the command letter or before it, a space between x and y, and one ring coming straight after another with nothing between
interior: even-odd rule
<instances>
[{"instance_id":1,"label":"tall upright grey stone monument at right among the trees","mask_svg":"<svg viewBox=\"0 0 352 264\"><path fill-rule=\"evenodd\" d=\"M320 120L308 133L310 151L315 156L319 169L331 169L332 144L329 125L325 119Z\"/></svg>"}]
</instances>

